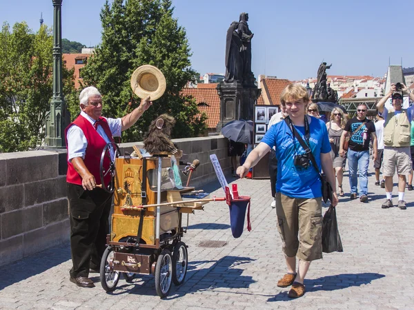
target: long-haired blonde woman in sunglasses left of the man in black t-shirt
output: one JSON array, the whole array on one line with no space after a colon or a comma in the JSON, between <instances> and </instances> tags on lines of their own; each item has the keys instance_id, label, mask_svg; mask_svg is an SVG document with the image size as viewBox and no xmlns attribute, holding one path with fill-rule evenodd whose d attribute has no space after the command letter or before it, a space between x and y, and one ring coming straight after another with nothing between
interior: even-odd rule
<instances>
[{"instance_id":1,"label":"long-haired blonde woman in sunglasses left of the man in black t-shirt","mask_svg":"<svg viewBox=\"0 0 414 310\"><path fill-rule=\"evenodd\" d=\"M333 173L335 174L336 172L339 187L339 196L344 196L344 189L342 189L344 171L342 170L342 167L344 165L344 161L346 161L346 157L339 155L339 144L345 124L346 121L344 112L342 112L339 107L335 107L331 113L331 121L328 121L328 123L326 123L326 128L328 129L329 142L331 143L332 148L331 154L333 161Z\"/></svg>"}]
</instances>

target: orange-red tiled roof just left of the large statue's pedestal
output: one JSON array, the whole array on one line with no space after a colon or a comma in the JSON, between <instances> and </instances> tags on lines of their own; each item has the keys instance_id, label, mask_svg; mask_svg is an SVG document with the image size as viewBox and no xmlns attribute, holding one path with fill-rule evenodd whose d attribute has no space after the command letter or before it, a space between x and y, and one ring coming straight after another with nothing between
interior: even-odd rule
<instances>
[{"instance_id":1,"label":"orange-red tiled roof just left of the large statue's pedestal","mask_svg":"<svg viewBox=\"0 0 414 310\"><path fill-rule=\"evenodd\" d=\"M198 85L212 85L198 84ZM217 84L215 84L217 87ZM205 112L208 116L206 121L208 129L215 129L220 121L220 97L217 90L212 87L183 88L181 90L183 96L192 96L200 112ZM200 104L202 103L202 104Z\"/></svg>"}]
</instances>

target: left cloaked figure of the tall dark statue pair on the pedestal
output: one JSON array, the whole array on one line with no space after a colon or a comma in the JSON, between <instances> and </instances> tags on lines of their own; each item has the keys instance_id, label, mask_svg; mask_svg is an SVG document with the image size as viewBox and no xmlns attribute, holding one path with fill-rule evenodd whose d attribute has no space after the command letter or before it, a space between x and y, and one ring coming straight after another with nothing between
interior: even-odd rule
<instances>
[{"instance_id":1,"label":"left cloaked figure of the tall dark statue pair on the pedestal","mask_svg":"<svg viewBox=\"0 0 414 310\"><path fill-rule=\"evenodd\" d=\"M237 33L239 23L233 21L227 30L226 36L226 83L233 81L243 81L243 59L240 54L242 40Z\"/></svg>"}]
</instances>

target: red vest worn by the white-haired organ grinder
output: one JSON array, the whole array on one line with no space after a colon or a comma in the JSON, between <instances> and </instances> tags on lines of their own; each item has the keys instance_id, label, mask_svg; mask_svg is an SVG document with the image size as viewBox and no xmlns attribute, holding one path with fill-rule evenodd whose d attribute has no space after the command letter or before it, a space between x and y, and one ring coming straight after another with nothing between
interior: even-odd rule
<instances>
[{"instance_id":1,"label":"red vest worn by the white-haired organ grinder","mask_svg":"<svg viewBox=\"0 0 414 310\"><path fill-rule=\"evenodd\" d=\"M97 130L95 130L94 125L90 123L86 118L79 115L73 123L70 123L65 130L65 138L66 138L66 145L68 145L68 130L70 126L77 125L81 128L83 134L85 135L86 141L88 141L88 147L86 147L86 154L83 162L85 163L86 167L88 168L89 172L95 176L95 181L97 185L101 184L101 176L99 165L101 164L101 154L103 151L103 147L105 147L106 142L103 138L98 134ZM110 128L108 122L105 118L99 117L99 125L102 126L103 131L105 132L106 136L110 139L110 141L115 142L114 138L112 138L112 133L110 132ZM66 149L68 147L66 146ZM68 152L69 156L69 152ZM103 159L103 167L105 171L109 168L110 160L108 156L105 156ZM66 182L82 185L82 178L73 167L72 163L68 161L68 174L66 174ZM105 176L105 184L110 182L110 174Z\"/></svg>"}]
</instances>

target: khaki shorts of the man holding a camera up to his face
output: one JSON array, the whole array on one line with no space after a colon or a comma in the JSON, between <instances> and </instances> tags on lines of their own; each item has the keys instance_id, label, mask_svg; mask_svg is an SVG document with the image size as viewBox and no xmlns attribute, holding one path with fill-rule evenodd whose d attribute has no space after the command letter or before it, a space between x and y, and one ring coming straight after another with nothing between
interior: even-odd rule
<instances>
[{"instance_id":1,"label":"khaki shorts of the man holding a camera up to his face","mask_svg":"<svg viewBox=\"0 0 414 310\"><path fill-rule=\"evenodd\" d=\"M382 174L393 176L395 169L397 174L411 174L413 163L411 162L410 147L384 147L384 158L382 159Z\"/></svg>"}]
</instances>

